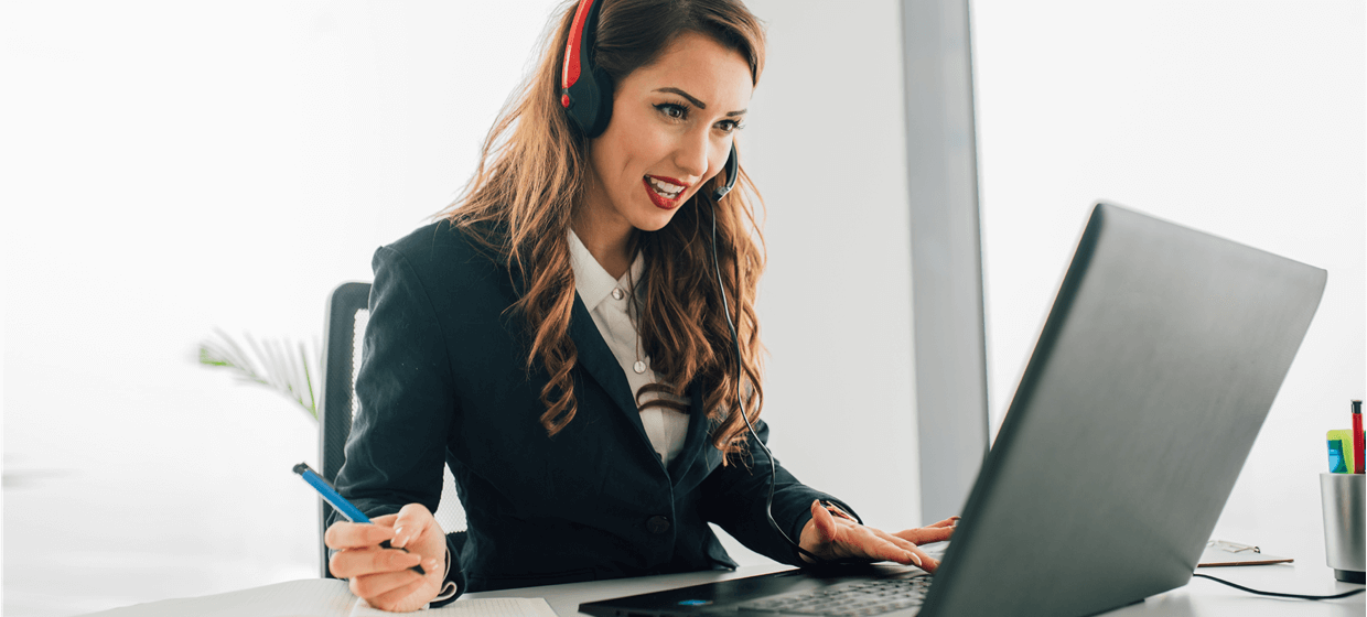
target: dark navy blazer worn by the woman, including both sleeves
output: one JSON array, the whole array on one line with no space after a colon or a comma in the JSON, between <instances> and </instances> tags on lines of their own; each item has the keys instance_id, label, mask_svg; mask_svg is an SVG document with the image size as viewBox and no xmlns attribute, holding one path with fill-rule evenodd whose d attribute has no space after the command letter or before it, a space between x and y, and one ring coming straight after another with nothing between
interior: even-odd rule
<instances>
[{"instance_id":1,"label":"dark navy blazer worn by the woman, including both sleeves","mask_svg":"<svg viewBox=\"0 0 1367 617\"><path fill-rule=\"evenodd\" d=\"M666 468L622 366L577 295L578 411L548 437L539 399L548 375L540 362L526 370L526 328L507 310L518 298L507 268L447 221L380 247L372 266L361 407L336 487L372 517L409 502L436 512L448 465L469 524L448 576L463 577L462 591L734 569L708 523L760 554L804 565L767 521L768 459L752 448L748 465L722 465L699 384L688 388L684 450ZM755 429L767 440L764 422ZM811 519L812 500L853 512L778 467L774 520L790 538Z\"/></svg>"}]
</instances>

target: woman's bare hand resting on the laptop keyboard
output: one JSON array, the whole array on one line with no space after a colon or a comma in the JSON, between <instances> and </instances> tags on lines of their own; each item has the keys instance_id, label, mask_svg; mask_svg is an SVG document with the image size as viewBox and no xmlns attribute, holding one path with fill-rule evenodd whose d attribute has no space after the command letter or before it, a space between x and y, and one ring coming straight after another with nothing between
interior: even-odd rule
<instances>
[{"instance_id":1,"label":"woman's bare hand resting on the laptop keyboard","mask_svg":"<svg viewBox=\"0 0 1367 617\"><path fill-rule=\"evenodd\" d=\"M954 535L958 516L951 516L928 527L889 534L872 527L864 527L853 520L831 516L820 501L812 502L812 520L802 527L798 545L804 550L828 560L869 558L874 561L895 561L915 565L925 572L935 572L939 561L921 551L917 545L945 542ZM812 562L807 556L802 561Z\"/></svg>"}]
</instances>

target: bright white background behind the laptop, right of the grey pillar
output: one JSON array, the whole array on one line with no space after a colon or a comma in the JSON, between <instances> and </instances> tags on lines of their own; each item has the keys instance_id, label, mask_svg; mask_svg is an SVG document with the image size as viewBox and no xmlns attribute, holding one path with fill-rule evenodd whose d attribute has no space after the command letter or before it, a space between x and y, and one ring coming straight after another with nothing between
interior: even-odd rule
<instances>
[{"instance_id":1,"label":"bright white background behind the laptop, right of the grey pillar","mask_svg":"<svg viewBox=\"0 0 1367 617\"><path fill-rule=\"evenodd\" d=\"M1367 394L1364 26L1362 1L973 3L994 434L1094 201L1323 268L1214 534L1323 566L1325 431Z\"/></svg>"}]
</instances>

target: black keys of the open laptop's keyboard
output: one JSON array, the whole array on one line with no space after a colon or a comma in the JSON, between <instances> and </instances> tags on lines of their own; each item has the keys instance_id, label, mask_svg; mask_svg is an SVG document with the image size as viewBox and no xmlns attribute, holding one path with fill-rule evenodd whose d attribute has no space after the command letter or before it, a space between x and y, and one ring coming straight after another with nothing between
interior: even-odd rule
<instances>
[{"instance_id":1,"label":"black keys of the open laptop's keyboard","mask_svg":"<svg viewBox=\"0 0 1367 617\"><path fill-rule=\"evenodd\" d=\"M830 617L868 617L920 606L930 588L930 576L869 580L802 594L770 597L746 602L737 609Z\"/></svg>"}]
</instances>

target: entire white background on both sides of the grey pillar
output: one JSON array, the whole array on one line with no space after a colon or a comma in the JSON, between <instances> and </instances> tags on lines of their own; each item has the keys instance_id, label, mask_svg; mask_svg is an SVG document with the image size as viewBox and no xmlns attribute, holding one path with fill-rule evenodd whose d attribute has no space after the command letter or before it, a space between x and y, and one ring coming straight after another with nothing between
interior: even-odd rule
<instances>
[{"instance_id":1,"label":"entire white background on both sides of the grey pillar","mask_svg":"<svg viewBox=\"0 0 1367 617\"><path fill-rule=\"evenodd\" d=\"M194 345L317 336L469 176L552 4L0 4L7 616L316 575L313 420ZM775 448L916 524L898 3L750 5ZM994 425L1094 198L1327 268L1219 527L1318 538L1363 394L1362 3L1031 5L975 3Z\"/></svg>"}]
</instances>

